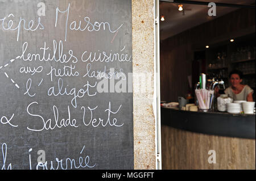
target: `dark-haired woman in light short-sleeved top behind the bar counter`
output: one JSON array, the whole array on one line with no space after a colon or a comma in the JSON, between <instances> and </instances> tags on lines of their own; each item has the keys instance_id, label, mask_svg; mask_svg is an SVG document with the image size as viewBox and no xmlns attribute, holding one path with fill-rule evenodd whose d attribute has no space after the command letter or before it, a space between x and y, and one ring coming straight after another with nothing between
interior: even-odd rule
<instances>
[{"instance_id":1,"label":"dark-haired woman in light short-sleeved top behind the bar counter","mask_svg":"<svg viewBox=\"0 0 256 181\"><path fill-rule=\"evenodd\" d=\"M229 81L231 86L224 92L228 94L233 100L246 100L253 102L253 89L247 85L242 85L243 73L239 70L233 70L229 74Z\"/></svg>"}]
</instances>

